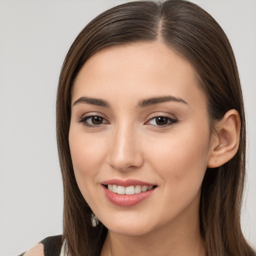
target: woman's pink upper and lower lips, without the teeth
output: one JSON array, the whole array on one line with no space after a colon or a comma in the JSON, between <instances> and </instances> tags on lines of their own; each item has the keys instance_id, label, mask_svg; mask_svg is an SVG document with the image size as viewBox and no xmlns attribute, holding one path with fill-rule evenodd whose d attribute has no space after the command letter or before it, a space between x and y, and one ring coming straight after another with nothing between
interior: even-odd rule
<instances>
[{"instance_id":1,"label":"woman's pink upper and lower lips, without the teeth","mask_svg":"<svg viewBox=\"0 0 256 256\"><path fill-rule=\"evenodd\" d=\"M142 185L142 186L152 185L153 186L155 184L144 182L141 180L136 180L136 179L126 179L126 180L109 179L109 180L103 181L101 184L102 184L102 189L106 198L114 205L121 206L121 207L129 207L142 202L143 200L148 198L155 191L155 188L156 188L154 187L151 190L147 190L147 191L135 193L135 194L117 194L108 190L105 187L105 185L115 184L120 186L130 186L130 185Z\"/></svg>"}]
</instances>

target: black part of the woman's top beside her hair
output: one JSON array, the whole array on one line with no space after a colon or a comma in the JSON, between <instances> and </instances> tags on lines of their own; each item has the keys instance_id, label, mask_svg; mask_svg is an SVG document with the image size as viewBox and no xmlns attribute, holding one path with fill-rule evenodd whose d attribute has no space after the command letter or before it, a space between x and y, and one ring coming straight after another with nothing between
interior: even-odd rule
<instances>
[{"instance_id":1,"label":"black part of the woman's top beside her hair","mask_svg":"<svg viewBox=\"0 0 256 256\"><path fill-rule=\"evenodd\" d=\"M40 242L43 244L44 256L59 256L62 245L62 235L48 236Z\"/></svg>"}]
</instances>

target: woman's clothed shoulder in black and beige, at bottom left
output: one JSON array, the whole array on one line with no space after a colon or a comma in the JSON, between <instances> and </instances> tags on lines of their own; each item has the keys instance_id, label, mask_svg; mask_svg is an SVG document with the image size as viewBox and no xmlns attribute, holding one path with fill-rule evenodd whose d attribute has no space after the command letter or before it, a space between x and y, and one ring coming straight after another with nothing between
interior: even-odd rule
<instances>
[{"instance_id":1,"label":"woman's clothed shoulder in black and beige, at bottom left","mask_svg":"<svg viewBox=\"0 0 256 256\"><path fill-rule=\"evenodd\" d=\"M55 256L60 254L62 236L48 236L20 256Z\"/></svg>"}]
</instances>

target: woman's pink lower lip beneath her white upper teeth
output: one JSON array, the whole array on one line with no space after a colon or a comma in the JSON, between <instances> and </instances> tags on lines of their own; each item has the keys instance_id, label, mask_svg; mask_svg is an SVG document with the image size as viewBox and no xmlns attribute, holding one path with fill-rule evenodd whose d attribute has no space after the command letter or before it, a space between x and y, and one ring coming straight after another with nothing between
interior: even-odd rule
<instances>
[{"instance_id":1,"label":"woman's pink lower lip beneath her white upper teeth","mask_svg":"<svg viewBox=\"0 0 256 256\"><path fill-rule=\"evenodd\" d=\"M122 207L133 206L135 204L140 203L144 199L148 198L155 190L152 188L151 190L140 192L137 194L117 194L108 190L105 186L103 186L103 190L106 198L113 204Z\"/></svg>"}]
</instances>

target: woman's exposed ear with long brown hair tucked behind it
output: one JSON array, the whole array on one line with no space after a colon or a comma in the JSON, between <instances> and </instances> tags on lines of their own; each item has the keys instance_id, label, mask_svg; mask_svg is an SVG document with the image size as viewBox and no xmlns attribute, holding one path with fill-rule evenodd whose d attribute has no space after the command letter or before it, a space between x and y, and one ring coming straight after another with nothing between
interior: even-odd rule
<instances>
[{"instance_id":1,"label":"woman's exposed ear with long brown hair tucked behind it","mask_svg":"<svg viewBox=\"0 0 256 256\"><path fill-rule=\"evenodd\" d=\"M235 109L228 110L215 125L207 167L218 167L230 160L238 150L240 116Z\"/></svg>"}]
</instances>

